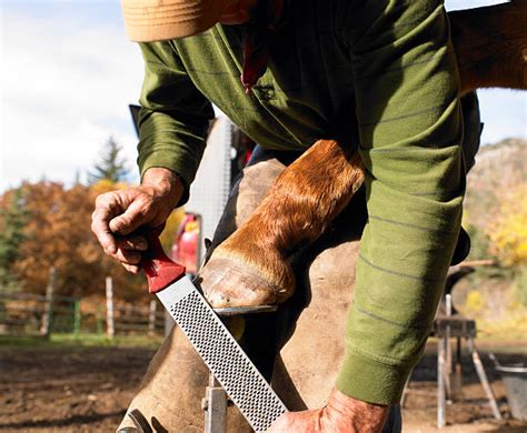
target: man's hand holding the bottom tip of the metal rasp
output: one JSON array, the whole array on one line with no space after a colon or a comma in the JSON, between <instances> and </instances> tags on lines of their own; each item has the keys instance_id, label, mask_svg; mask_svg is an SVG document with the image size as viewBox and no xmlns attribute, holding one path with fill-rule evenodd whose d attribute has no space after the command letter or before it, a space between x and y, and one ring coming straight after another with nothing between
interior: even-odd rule
<instances>
[{"instance_id":1,"label":"man's hand holding the bottom tip of the metal rasp","mask_svg":"<svg viewBox=\"0 0 527 433\"><path fill-rule=\"evenodd\" d=\"M338 390L329 395L322 409L288 412L269 433L380 433L389 406L355 400Z\"/></svg>"}]
</instances>

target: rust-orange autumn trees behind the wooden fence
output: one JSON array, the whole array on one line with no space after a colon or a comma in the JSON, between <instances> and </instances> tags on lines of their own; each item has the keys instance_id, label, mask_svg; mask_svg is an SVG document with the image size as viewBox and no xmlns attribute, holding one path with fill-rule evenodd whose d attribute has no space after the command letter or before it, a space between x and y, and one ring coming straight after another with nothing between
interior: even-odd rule
<instances>
[{"instance_id":1,"label":"rust-orange autumn trees behind the wooden fence","mask_svg":"<svg viewBox=\"0 0 527 433\"><path fill-rule=\"evenodd\" d=\"M108 182L107 188L116 185ZM117 296L148 296L145 279L106 256L90 231L93 201L101 191L81 184L66 189L57 182L24 183L22 189L29 218L12 270L24 291L43 293L53 266L60 295L103 296L105 278L111 275Z\"/></svg>"}]
</instances>

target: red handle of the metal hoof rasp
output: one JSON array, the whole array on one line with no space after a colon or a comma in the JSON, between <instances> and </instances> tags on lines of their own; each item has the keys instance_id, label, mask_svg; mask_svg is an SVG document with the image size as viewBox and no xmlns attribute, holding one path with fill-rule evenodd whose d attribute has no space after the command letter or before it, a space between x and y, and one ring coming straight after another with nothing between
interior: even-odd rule
<instances>
[{"instance_id":1,"label":"red handle of the metal hoof rasp","mask_svg":"<svg viewBox=\"0 0 527 433\"><path fill-rule=\"evenodd\" d=\"M158 293L185 276L185 266L170 260L158 236L148 236L148 250L143 253L141 268L148 280L148 291Z\"/></svg>"}]
</instances>

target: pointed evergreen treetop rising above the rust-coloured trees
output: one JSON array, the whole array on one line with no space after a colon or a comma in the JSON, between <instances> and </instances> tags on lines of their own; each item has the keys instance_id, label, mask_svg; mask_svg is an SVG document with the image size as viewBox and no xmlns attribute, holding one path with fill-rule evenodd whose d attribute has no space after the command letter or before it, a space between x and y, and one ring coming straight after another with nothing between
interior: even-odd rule
<instances>
[{"instance_id":1,"label":"pointed evergreen treetop rising above the rust-coloured trees","mask_svg":"<svg viewBox=\"0 0 527 433\"><path fill-rule=\"evenodd\" d=\"M122 157L122 147L112 137L105 144L101 160L93 168L93 172L88 172L88 183L93 184L101 180L112 183L122 182L129 175L126 158Z\"/></svg>"}]
</instances>

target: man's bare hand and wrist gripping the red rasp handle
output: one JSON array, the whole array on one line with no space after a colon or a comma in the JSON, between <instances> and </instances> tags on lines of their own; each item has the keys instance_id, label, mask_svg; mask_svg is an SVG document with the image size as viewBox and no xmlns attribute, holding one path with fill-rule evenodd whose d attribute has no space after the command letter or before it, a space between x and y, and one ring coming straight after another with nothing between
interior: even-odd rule
<instances>
[{"instance_id":1,"label":"man's bare hand and wrist gripping the red rasp handle","mask_svg":"<svg viewBox=\"0 0 527 433\"><path fill-rule=\"evenodd\" d=\"M139 187L101 194L96 200L91 231L105 252L129 272L139 273L141 252L148 249L139 228L161 230L181 198L183 185L170 170L152 168ZM135 233L136 232L136 233Z\"/></svg>"}]
</instances>

